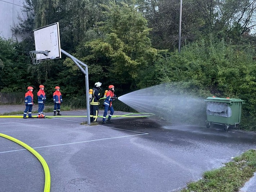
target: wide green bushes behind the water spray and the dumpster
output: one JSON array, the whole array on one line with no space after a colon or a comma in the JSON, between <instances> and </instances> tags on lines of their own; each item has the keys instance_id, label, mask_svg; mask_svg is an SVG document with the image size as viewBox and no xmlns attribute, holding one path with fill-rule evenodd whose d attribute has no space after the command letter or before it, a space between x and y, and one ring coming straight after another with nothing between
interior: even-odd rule
<instances>
[{"instance_id":1,"label":"wide green bushes behind the water spray and the dumpster","mask_svg":"<svg viewBox=\"0 0 256 192\"><path fill-rule=\"evenodd\" d=\"M179 94L243 99L241 127L256 130L256 61L253 58L255 49L251 45L201 40L187 44L180 54L176 51L159 58L154 70L144 72L146 75L140 84L148 85L149 79L155 79L154 84L169 82L172 91ZM150 78L147 77L149 71Z\"/></svg>"}]
</instances>

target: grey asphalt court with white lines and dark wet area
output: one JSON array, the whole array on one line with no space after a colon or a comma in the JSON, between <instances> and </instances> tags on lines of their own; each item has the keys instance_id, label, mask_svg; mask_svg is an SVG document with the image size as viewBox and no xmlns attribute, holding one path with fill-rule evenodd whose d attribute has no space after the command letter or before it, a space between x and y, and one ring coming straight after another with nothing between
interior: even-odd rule
<instances>
[{"instance_id":1,"label":"grey asphalt court with white lines and dark wet area","mask_svg":"<svg viewBox=\"0 0 256 192\"><path fill-rule=\"evenodd\" d=\"M255 133L218 126L171 125L146 117L86 126L81 125L85 118L64 117L85 111L62 115L0 118L0 133L35 148L47 162L51 192L176 192L203 172L256 149ZM8 139L0 137L0 145L1 191L43 191L44 170L37 158Z\"/></svg>"}]
</instances>

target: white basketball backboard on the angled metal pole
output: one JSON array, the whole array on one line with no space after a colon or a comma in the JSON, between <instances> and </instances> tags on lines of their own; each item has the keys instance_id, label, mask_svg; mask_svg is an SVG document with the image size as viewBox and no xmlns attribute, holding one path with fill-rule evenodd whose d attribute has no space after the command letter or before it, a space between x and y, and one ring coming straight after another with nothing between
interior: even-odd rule
<instances>
[{"instance_id":1,"label":"white basketball backboard on the angled metal pole","mask_svg":"<svg viewBox=\"0 0 256 192\"><path fill-rule=\"evenodd\" d=\"M36 60L61 58L59 23L53 23L34 30ZM39 54L39 52L44 52ZM46 54L48 53L48 54Z\"/></svg>"}]
</instances>

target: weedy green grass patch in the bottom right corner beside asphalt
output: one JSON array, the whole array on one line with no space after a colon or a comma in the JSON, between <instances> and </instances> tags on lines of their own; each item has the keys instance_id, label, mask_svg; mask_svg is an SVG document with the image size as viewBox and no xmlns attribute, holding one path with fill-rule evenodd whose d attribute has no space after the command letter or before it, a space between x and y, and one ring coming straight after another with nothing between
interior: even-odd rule
<instances>
[{"instance_id":1,"label":"weedy green grass patch in the bottom right corner beside asphalt","mask_svg":"<svg viewBox=\"0 0 256 192\"><path fill-rule=\"evenodd\" d=\"M250 149L219 169L207 171L203 179L189 183L181 192L239 191L256 171L256 150Z\"/></svg>"}]
</instances>

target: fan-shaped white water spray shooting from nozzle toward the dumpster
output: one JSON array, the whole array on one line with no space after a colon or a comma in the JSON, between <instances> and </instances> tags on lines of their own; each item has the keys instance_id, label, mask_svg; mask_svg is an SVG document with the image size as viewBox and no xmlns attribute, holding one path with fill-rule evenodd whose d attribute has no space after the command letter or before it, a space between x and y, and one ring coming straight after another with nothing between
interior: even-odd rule
<instances>
[{"instance_id":1,"label":"fan-shaped white water spray shooting from nozzle toward the dumpster","mask_svg":"<svg viewBox=\"0 0 256 192\"><path fill-rule=\"evenodd\" d=\"M170 84L161 84L133 91L118 99L138 112L154 113L175 124L203 125L206 120L204 99L178 92Z\"/></svg>"}]
</instances>

